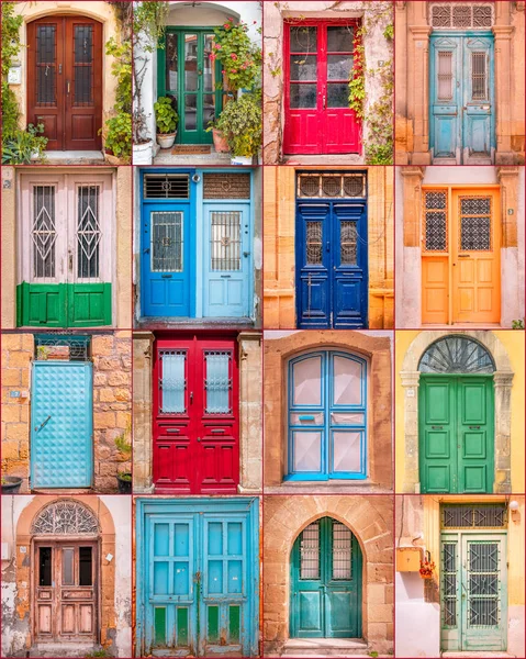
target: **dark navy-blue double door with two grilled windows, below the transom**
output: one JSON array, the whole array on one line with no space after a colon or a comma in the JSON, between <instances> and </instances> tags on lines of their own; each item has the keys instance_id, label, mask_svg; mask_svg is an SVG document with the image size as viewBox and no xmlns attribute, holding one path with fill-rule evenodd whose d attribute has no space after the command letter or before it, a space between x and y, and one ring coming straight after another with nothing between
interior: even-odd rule
<instances>
[{"instance_id":1,"label":"dark navy-blue double door with two grilled windows, below the transom","mask_svg":"<svg viewBox=\"0 0 526 659\"><path fill-rule=\"evenodd\" d=\"M366 202L298 202L300 328L367 326Z\"/></svg>"}]
</instances>

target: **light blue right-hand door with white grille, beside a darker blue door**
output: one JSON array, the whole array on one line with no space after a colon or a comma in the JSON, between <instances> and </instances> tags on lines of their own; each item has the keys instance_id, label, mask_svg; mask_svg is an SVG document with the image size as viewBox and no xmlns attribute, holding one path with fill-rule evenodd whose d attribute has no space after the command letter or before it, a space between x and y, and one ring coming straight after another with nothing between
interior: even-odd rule
<instances>
[{"instance_id":1,"label":"light blue right-hand door with white grille, beside a darker blue door","mask_svg":"<svg viewBox=\"0 0 526 659\"><path fill-rule=\"evenodd\" d=\"M204 204L203 316L248 317L251 290L250 206Z\"/></svg>"}]
</instances>

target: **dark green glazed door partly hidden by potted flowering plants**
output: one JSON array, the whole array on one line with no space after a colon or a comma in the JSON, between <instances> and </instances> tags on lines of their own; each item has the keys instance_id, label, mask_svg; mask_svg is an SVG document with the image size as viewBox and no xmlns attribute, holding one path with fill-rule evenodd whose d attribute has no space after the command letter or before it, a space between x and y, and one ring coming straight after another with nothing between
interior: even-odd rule
<instances>
[{"instance_id":1,"label":"dark green glazed door partly hidden by potted flowering plants","mask_svg":"<svg viewBox=\"0 0 526 659\"><path fill-rule=\"evenodd\" d=\"M213 57L212 27L167 27L165 48L158 54L158 94L177 99L177 142L211 144L209 122L223 102L221 64Z\"/></svg>"}]
</instances>

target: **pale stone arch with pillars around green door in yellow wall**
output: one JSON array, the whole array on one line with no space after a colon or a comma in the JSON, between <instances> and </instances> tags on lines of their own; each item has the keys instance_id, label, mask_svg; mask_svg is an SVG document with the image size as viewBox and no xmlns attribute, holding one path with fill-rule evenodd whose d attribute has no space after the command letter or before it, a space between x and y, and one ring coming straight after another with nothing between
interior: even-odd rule
<instances>
[{"instance_id":1,"label":"pale stone arch with pillars around green door in yellow wall","mask_svg":"<svg viewBox=\"0 0 526 659\"><path fill-rule=\"evenodd\" d=\"M514 371L506 348L490 331L428 331L418 333L409 346L400 371L404 390L404 448L405 470L403 492L419 493L418 472L418 364L425 350L443 336L467 336L481 344L495 364L493 388L495 394L495 493L511 492L511 420L512 382ZM410 393L412 392L412 393Z\"/></svg>"}]
</instances>

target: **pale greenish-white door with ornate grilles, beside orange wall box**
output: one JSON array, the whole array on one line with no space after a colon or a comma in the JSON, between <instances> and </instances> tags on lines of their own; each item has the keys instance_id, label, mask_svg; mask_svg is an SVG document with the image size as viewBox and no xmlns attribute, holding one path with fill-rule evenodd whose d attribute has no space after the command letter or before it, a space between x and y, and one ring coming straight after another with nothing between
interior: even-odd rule
<instances>
[{"instance_id":1,"label":"pale greenish-white door with ornate grilles, beside orange wall box","mask_svg":"<svg viewBox=\"0 0 526 659\"><path fill-rule=\"evenodd\" d=\"M444 533L440 581L441 649L505 651L505 533Z\"/></svg>"}]
</instances>

